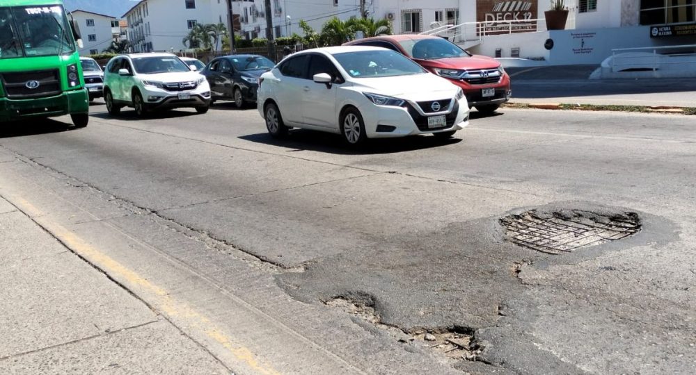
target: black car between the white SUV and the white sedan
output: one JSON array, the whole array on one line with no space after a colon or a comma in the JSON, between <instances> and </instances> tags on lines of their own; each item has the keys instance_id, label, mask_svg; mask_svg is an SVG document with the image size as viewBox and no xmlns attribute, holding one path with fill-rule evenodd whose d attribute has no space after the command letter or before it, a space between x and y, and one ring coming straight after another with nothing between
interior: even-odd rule
<instances>
[{"instance_id":1,"label":"black car between the white SUV and the white sedan","mask_svg":"<svg viewBox=\"0 0 696 375\"><path fill-rule=\"evenodd\" d=\"M258 55L232 55L216 58L200 74L207 78L212 100L233 100L237 108L256 102L261 74L276 65Z\"/></svg>"}]
</instances>

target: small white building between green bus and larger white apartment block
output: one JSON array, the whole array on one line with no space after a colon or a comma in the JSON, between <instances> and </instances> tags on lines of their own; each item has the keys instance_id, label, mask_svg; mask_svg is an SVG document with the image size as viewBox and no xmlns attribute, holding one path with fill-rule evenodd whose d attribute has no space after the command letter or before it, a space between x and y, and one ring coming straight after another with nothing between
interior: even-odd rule
<instances>
[{"instance_id":1,"label":"small white building between green bus and larger white apartment block","mask_svg":"<svg viewBox=\"0 0 696 375\"><path fill-rule=\"evenodd\" d=\"M82 34L84 48L79 51L81 56L101 53L109 48L112 40L119 38L121 31L116 17L80 9L71 13Z\"/></svg>"}]
</instances>

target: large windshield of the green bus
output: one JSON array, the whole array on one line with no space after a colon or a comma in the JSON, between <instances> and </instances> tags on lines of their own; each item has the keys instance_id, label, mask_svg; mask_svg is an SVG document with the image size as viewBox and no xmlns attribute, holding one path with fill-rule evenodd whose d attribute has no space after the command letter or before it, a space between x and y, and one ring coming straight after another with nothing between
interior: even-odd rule
<instances>
[{"instance_id":1,"label":"large windshield of the green bus","mask_svg":"<svg viewBox=\"0 0 696 375\"><path fill-rule=\"evenodd\" d=\"M0 8L0 58L75 51L62 6Z\"/></svg>"}]
</instances>

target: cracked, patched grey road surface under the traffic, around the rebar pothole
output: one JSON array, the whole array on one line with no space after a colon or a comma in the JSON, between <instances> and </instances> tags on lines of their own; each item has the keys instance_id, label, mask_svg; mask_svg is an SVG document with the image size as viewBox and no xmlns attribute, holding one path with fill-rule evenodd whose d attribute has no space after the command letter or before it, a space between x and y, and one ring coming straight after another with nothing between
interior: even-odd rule
<instances>
[{"instance_id":1,"label":"cracked, patched grey road surface under the traffic, around the rebar pothole","mask_svg":"<svg viewBox=\"0 0 696 375\"><path fill-rule=\"evenodd\" d=\"M503 109L351 151L225 103L92 113L4 128L0 194L239 374L696 371L693 117ZM532 208L642 229L550 255L505 240Z\"/></svg>"}]
</instances>

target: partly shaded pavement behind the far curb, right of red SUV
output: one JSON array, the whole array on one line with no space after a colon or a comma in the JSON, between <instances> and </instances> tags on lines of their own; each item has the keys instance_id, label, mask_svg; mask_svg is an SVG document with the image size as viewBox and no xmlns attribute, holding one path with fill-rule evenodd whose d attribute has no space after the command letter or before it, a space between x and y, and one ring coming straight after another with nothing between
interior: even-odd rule
<instances>
[{"instance_id":1,"label":"partly shaded pavement behind the far curb, right of red SUV","mask_svg":"<svg viewBox=\"0 0 696 375\"><path fill-rule=\"evenodd\" d=\"M696 107L696 78L591 80L596 67L509 68L509 103Z\"/></svg>"}]
</instances>

